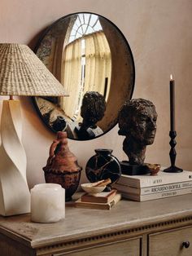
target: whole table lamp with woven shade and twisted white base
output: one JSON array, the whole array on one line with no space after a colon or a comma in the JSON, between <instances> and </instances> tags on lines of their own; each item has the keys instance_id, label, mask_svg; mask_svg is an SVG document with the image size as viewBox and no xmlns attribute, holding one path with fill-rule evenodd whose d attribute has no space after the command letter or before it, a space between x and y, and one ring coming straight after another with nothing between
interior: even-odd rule
<instances>
[{"instance_id":1,"label":"whole table lamp with woven shade and twisted white base","mask_svg":"<svg viewBox=\"0 0 192 256\"><path fill-rule=\"evenodd\" d=\"M0 95L2 102L0 147L0 214L30 212L26 179L27 160L21 143L19 96L64 96L63 86L26 45L0 43Z\"/></svg>"}]
</instances>

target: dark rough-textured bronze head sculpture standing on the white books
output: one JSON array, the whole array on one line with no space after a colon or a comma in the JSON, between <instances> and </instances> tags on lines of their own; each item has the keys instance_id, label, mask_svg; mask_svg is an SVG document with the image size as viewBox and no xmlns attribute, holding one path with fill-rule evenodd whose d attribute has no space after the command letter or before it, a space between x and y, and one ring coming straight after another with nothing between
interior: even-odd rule
<instances>
[{"instance_id":1,"label":"dark rough-textured bronze head sculpture standing on the white books","mask_svg":"<svg viewBox=\"0 0 192 256\"><path fill-rule=\"evenodd\" d=\"M120 110L118 133L126 137L123 149L130 165L143 165L146 145L155 139L156 120L155 105L146 99L131 99Z\"/></svg>"}]
</instances>

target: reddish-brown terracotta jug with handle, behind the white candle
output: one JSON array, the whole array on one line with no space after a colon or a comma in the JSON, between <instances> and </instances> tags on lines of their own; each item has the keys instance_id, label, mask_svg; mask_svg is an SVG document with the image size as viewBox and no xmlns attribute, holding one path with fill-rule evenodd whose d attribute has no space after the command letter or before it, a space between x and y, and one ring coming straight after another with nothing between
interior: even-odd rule
<instances>
[{"instance_id":1,"label":"reddish-brown terracotta jug with handle, behind the white candle","mask_svg":"<svg viewBox=\"0 0 192 256\"><path fill-rule=\"evenodd\" d=\"M65 188L66 201L72 200L81 178L81 166L68 148L67 133L59 131L50 145L50 156L43 167L46 183L58 183Z\"/></svg>"}]
</instances>

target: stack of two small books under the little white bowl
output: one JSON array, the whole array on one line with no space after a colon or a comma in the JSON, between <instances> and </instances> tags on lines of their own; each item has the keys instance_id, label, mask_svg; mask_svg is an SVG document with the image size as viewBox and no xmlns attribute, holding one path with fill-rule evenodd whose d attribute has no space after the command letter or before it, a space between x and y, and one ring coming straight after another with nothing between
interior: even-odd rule
<instances>
[{"instance_id":1,"label":"stack of two small books under the little white bowl","mask_svg":"<svg viewBox=\"0 0 192 256\"><path fill-rule=\"evenodd\" d=\"M101 192L95 195L85 193L75 202L76 207L98 209L98 210L111 210L121 199L120 193L116 189L110 192Z\"/></svg>"}]
</instances>

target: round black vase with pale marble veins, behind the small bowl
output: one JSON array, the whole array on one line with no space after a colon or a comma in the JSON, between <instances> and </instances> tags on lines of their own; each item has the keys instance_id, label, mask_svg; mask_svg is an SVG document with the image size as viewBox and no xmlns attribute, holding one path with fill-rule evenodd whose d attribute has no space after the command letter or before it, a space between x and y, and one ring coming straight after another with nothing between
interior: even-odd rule
<instances>
[{"instance_id":1,"label":"round black vase with pale marble veins, behind the small bowl","mask_svg":"<svg viewBox=\"0 0 192 256\"><path fill-rule=\"evenodd\" d=\"M94 150L96 154L90 157L86 164L85 172L87 179L91 183L102 179L111 179L115 183L120 179L120 162L111 155L112 149L98 148Z\"/></svg>"}]
</instances>

